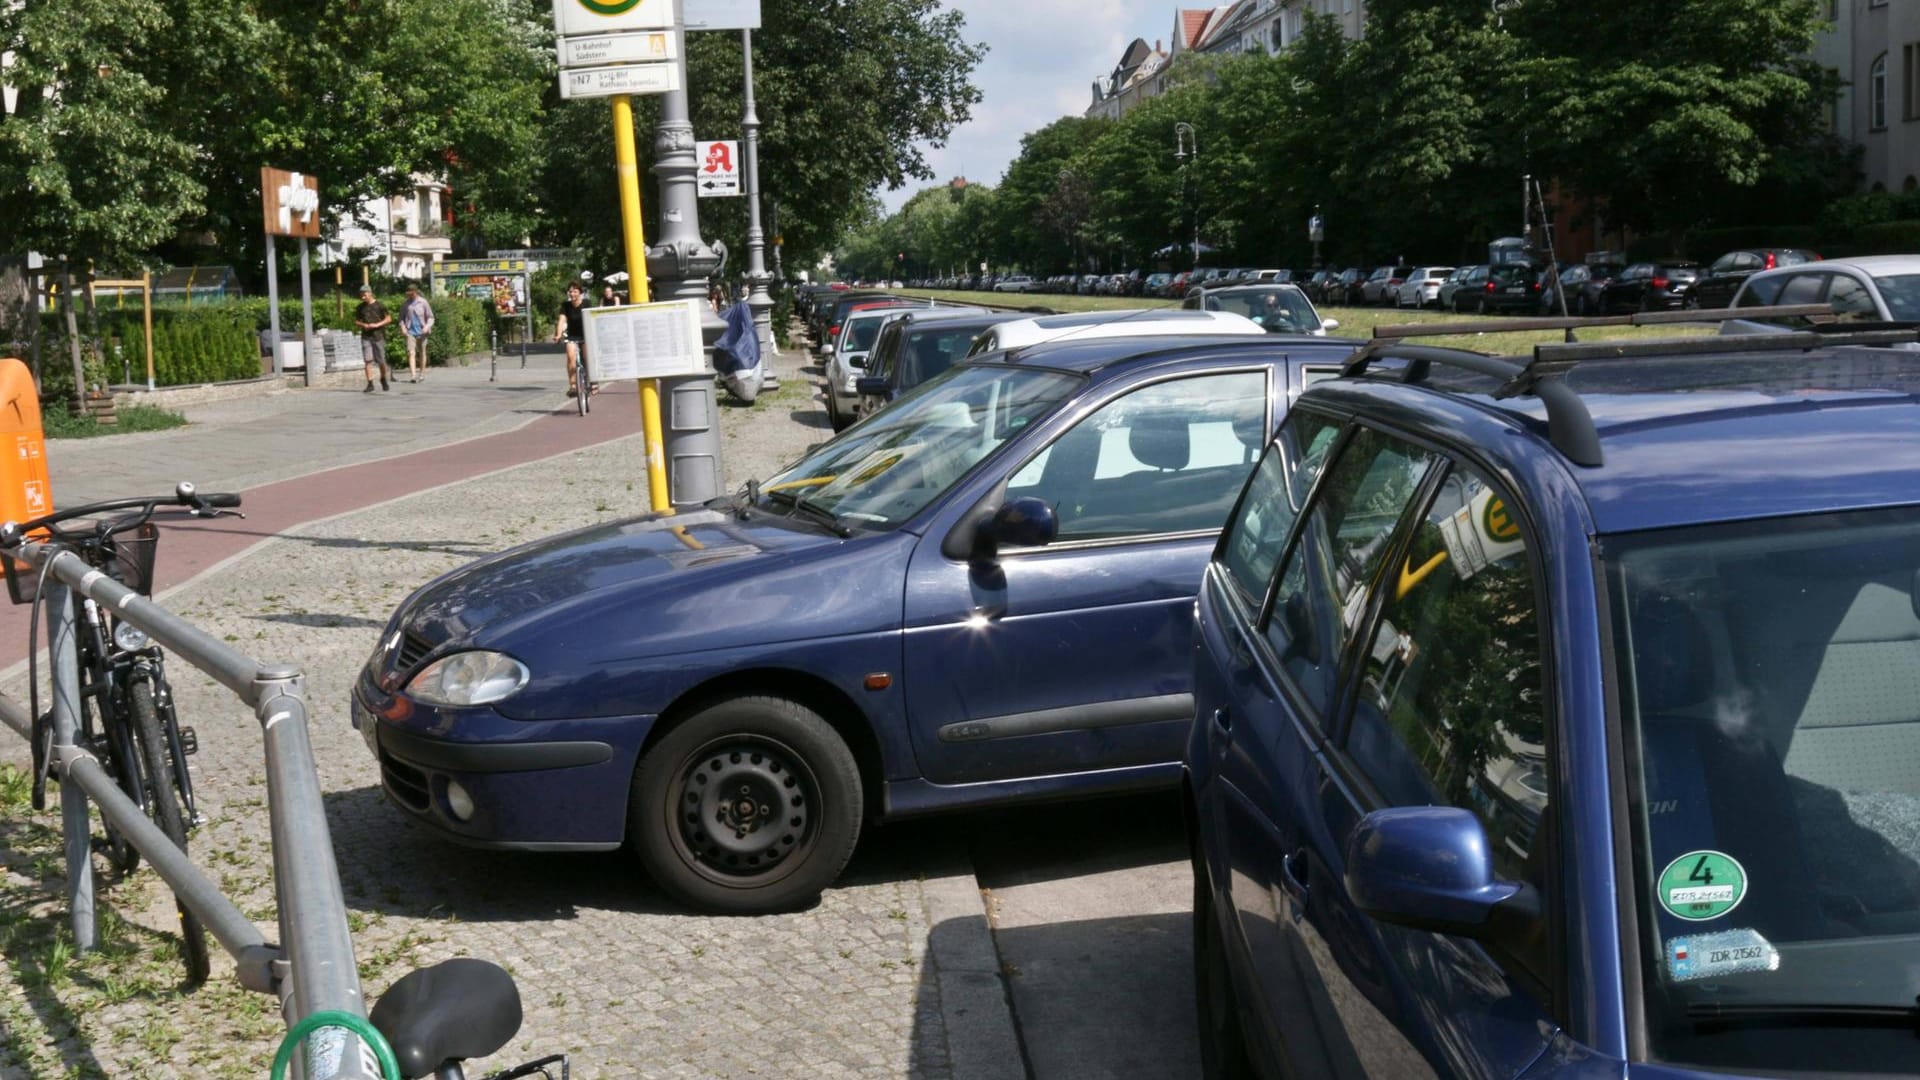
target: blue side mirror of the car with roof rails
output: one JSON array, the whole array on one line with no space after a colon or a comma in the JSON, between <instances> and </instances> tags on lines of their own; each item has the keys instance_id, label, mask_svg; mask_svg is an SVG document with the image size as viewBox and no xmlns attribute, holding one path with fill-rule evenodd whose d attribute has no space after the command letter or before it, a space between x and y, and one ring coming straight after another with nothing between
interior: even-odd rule
<instances>
[{"instance_id":1,"label":"blue side mirror of the car with roof rails","mask_svg":"<svg viewBox=\"0 0 1920 1080\"><path fill-rule=\"evenodd\" d=\"M1523 938L1540 917L1532 886L1494 878L1486 830L1459 807L1363 817L1346 842L1346 892L1380 922L1488 942Z\"/></svg>"}]
</instances>

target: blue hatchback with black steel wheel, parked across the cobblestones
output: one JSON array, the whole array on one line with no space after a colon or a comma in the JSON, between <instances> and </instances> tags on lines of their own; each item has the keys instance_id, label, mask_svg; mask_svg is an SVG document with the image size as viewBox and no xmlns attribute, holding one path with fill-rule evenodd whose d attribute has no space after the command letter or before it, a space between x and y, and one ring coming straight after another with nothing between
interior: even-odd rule
<instances>
[{"instance_id":1,"label":"blue hatchback with black steel wheel, parked across the cobblestones","mask_svg":"<svg viewBox=\"0 0 1920 1080\"><path fill-rule=\"evenodd\" d=\"M833 882L866 821L1179 780L1194 594L1327 338L960 363L785 473L407 598L353 688L445 836L632 844L685 903Z\"/></svg>"}]
</instances>

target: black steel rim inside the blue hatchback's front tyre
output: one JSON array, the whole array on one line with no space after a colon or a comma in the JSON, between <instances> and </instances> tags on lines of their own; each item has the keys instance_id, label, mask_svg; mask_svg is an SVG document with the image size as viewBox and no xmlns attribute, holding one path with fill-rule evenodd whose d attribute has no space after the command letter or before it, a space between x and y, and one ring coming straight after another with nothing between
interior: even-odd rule
<instances>
[{"instance_id":1,"label":"black steel rim inside the blue hatchback's front tyre","mask_svg":"<svg viewBox=\"0 0 1920 1080\"><path fill-rule=\"evenodd\" d=\"M722 736L682 759L666 794L674 851L693 872L760 888L795 872L820 836L820 782L766 736Z\"/></svg>"}]
</instances>

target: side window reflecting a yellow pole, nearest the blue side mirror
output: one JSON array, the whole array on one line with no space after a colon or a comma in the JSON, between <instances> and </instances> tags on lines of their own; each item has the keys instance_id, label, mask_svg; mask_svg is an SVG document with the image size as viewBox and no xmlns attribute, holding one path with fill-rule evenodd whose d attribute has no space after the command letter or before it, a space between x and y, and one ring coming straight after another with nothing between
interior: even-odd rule
<instances>
[{"instance_id":1,"label":"side window reflecting a yellow pole, nearest the blue side mirror","mask_svg":"<svg viewBox=\"0 0 1920 1080\"><path fill-rule=\"evenodd\" d=\"M1540 600L1507 498L1453 467L1379 588L1348 757L1390 805L1471 809L1496 872L1546 888Z\"/></svg>"}]
</instances>

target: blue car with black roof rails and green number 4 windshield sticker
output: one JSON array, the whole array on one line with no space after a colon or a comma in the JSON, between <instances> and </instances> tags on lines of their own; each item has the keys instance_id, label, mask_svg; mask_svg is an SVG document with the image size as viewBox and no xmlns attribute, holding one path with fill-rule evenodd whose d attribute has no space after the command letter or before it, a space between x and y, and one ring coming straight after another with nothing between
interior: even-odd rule
<instances>
[{"instance_id":1,"label":"blue car with black roof rails and green number 4 windshield sticker","mask_svg":"<svg viewBox=\"0 0 1920 1080\"><path fill-rule=\"evenodd\" d=\"M1213 1074L1920 1068L1920 367L1845 342L1296 402L1198 603Z\"/></svg>"}]
</instances>

